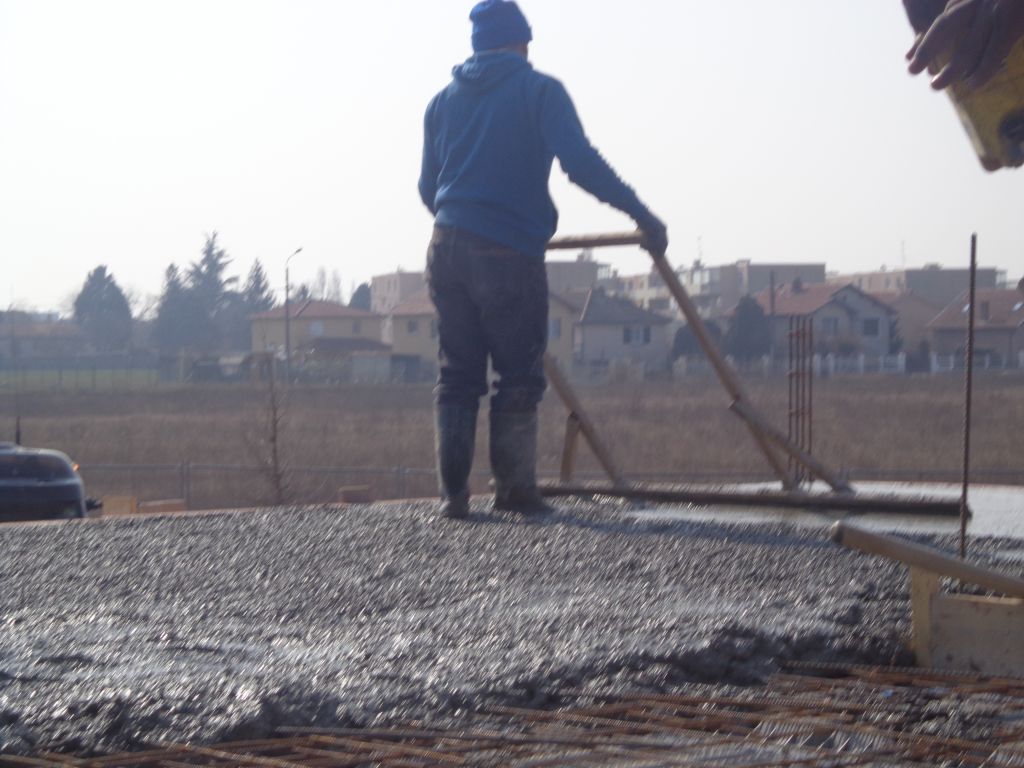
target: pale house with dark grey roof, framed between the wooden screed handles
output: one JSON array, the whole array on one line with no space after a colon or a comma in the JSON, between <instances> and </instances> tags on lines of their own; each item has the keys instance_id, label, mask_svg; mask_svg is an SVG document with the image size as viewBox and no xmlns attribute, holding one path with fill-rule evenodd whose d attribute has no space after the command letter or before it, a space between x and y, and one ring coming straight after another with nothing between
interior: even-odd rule
<instances>
[{"instance_id":1,"label":"pale house with dark grey roof, framed between the wooden screed handles","mask_svg":"<svg viewBox=\"0 0 1024 768\"><path fill-rule=\"evenodd\" d=\"M672 325L670 317L595 289L577 326L575 360L587 371L612 364L639 366L645 372L667 370Z\"/></svg>"}]
</instances>

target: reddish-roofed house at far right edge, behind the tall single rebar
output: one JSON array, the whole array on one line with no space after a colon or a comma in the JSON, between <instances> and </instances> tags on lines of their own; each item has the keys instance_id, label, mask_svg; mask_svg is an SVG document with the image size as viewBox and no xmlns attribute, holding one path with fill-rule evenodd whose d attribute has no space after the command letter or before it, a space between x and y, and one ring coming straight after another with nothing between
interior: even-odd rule
<instances>
[{"instance_id":1,"label":"reddish-roofed house at far right edge, behind the tall single rebar","mask_svg":"<svg viewBox=\"0 0 1024 768\"><path fill-rule=\"evenodd\" d=\"M988 288L975 299L974 351L999 366L1019 366L1024 353L1024 293L1009 288ZM963 355L967 347L968 293L949 303L928 328L932 351Z\"/></svg>"}]
</instances>

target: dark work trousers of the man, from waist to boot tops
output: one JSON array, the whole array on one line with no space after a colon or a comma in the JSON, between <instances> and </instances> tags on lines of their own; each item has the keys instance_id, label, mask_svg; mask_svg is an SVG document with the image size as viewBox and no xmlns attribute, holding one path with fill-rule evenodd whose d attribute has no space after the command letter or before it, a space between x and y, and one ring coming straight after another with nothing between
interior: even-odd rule
<instances>
[{"instance_id":1,"label":"dark work trousers of the man, from waist to boot tops","mask_svg":"<svg viewBox=\"0 0 1024 768\"><path fill-rule=\"evenodd\" d=\"M440 336L437 402L476 408L487 393L489 357L498 375L492 411L535 410L546 386L544 259L464 229L435 226L427 284Z\"/></svg>"}]
</instances>

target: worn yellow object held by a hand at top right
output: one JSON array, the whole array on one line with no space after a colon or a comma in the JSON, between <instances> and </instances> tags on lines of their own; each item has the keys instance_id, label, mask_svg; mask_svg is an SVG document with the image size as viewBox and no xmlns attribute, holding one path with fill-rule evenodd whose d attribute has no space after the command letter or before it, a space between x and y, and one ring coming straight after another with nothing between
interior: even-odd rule
<instances>
[{"instance_id":1,"label":"worn yellow object held by a hand at top right","mask_svg":"<svg viewBox=\"0 0 1024 768\"><path fill-rule=\"evenodd\" d=\"M986 171L1024 165L1024 39L981 88L958 82L947 90Z\"/></svg>"}]
</instances>

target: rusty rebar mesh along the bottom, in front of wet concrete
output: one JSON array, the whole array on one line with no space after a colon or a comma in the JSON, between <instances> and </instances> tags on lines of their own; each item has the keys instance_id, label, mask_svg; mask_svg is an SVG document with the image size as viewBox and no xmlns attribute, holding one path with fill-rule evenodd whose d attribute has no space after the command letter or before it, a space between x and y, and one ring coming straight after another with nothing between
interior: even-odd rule
<instances>
[{"instance_id":1,"label":"rusty rebar mesh along the bottom, in front of wet concrete","mask_svg":"<svg viewBox=\"0 0 1024 768\"><path fill-rule=\"evenodd\" d=\"M564 708L483 707L450 728L281 728L281 738L165 744L100 758L0 755L0 767L1024 764L1017 716L1024 711L1024 688L1019 685L927 670L836 667L816 672L776 675L765 685L728 691L562 691ZM934 732L937 717L961 711L972 713L971 728Z\"/></svg>"}]
</instances>

